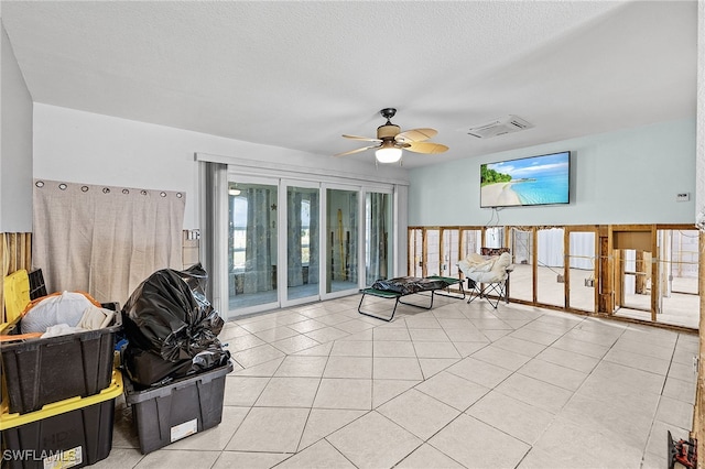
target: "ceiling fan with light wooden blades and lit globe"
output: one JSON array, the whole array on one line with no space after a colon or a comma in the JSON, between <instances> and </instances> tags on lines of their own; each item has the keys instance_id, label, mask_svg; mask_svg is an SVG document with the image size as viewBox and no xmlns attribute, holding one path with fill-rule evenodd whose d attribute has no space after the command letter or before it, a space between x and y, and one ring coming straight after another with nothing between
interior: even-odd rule
<instances>
[{"instance_id":1,"label":"ceiling fan with light wooden blades and lit globe","mask_svg":"<svg viewBox=\"0 0 705 469\"><path fill-rule=\"evenodd\" d=\"M364 152L366 150L377 149L375 151L375 156L379 163L397 163L401 160L402 149L409 150L410 152L426 154L443 153L448 150L446 145L442 145L441 143L426 142L426 140L438 133L435 129L411 129L402 132L399 126L391 122L391 118L397 113L397 109L384 108L379 111L379 113L387 119L387 123L377 128L377 139L357 135L343 135L346 139L375 142L375 145L338 153L335 156L345 156Z\"/></svg>"}]
</instances>

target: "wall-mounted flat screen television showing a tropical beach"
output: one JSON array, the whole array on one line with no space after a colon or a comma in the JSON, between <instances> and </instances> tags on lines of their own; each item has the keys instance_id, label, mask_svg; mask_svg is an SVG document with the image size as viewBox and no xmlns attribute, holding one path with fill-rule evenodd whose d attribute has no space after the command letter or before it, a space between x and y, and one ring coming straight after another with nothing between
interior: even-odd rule
<instances>
[{"instance_id":1,"label":"wall-mounted flat screen television showing a tropical beach","mask_svg":"<svg viewBox=\"0 0 705 469\"><path fill-rule=\"evenodd\" d=\"M480 165L480 207L570 204L571 152Z\"/></svg>"}]
</instances>

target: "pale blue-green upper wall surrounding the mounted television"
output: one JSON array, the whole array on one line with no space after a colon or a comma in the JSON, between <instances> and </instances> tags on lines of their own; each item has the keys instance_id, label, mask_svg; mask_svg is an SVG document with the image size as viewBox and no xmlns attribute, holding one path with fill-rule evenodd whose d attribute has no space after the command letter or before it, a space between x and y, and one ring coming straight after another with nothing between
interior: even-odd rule
<instances>
[{"instance_id":1,"label":"pale blue-green upper wall surrounding the mounted television","mask_svg":"<svg viewBox=\"0 0 705 469\"><path fill-rule=\"evenodd\" d=\"M505 208L492 225L693 223L695 128L695 119L662 122L411 170L409 225L484 226L492 211L479 208L480 164L565 150L571 204Z\"/></svg>"}]
</instances>

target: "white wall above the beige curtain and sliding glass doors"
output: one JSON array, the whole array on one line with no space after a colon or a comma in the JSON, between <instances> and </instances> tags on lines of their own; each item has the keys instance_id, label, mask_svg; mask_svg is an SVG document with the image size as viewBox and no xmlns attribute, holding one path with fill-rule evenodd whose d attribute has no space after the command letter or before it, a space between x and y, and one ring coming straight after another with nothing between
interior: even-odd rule
<instances>
[{"instance_id":1,"label":"white wall above the beige curtain and sliding glass doors","mask_svg":"<svg viewBox=\"0 0 705 469\"><path fill-rule=\"evenodd\" d=\"M259 145L205 133L34 105L34 177L186 193L184 228L198 228L195 153L282 162L406 181L403 168Z\"/></svg>"}]
</instances>

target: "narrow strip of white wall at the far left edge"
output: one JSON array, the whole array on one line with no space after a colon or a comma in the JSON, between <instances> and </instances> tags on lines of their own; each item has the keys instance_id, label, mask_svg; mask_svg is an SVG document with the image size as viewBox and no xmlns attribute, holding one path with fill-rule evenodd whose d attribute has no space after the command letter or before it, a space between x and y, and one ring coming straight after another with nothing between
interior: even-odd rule
<instances>
[{"instance_id":1,"label":"narrow strip of white wall at the far left edge","mask_svg":"<svg viewBox=\"0 0 705 469\"><path fill-rule=\"evenodd\" d=\"M0 24L0 232L32 231L32 97Z\"/></svg>"}]
</instances>

